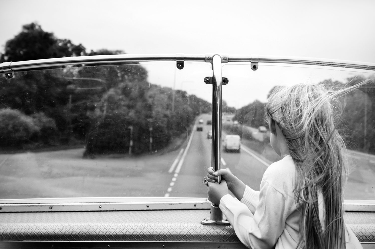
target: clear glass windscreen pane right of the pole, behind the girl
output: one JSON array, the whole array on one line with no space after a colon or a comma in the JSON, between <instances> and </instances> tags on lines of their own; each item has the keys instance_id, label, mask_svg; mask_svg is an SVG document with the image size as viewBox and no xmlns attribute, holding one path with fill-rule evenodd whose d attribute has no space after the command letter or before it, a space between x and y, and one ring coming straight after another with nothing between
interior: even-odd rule
<instances>
[{"instance_id":1,"label":"clear glass windscreen pane right of the pole, behind the girl","mask_svg":"<svg viewBox=\"0 0 375 249\"><path fill-rule=\"evenodd\" d=\"M250 64L229 63L223 65L222 76L229 79L228 85L222 88L223 108L227 106L222 115L222 136L238 135L241 139L240 149L228 150L223 142L222 167L231 170L255 190L259 190L267 167L280 160L270 145L270 132L264 116L264 107L272 91L279 86L297 83L341 87L367 81L341 98L344 109L338 130L347 146L350 169L345 199L374 200L375 73L280 64L260 65L257 71L253 71Z\"/></svg>"}]
</instances>

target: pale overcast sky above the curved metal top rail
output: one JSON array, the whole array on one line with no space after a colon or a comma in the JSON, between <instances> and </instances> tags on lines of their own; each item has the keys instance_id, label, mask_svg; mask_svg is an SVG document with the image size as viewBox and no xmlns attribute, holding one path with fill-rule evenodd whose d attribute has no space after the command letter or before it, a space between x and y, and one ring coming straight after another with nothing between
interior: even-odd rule
<instances>
[{"instance_id":1,"label":"pale overcast sky above the curved metal top rail","mask_svg":"<svg viewBox=\"0 0 375 249\"><path fill-rule=\"evenodd\" d=\"M106 48L127 54L258 54L375 63L373 0L0 0L0 9L1 51L22 25L37 22L58 38L82 43L88 52Z\"/></svg>"}]
</instances>

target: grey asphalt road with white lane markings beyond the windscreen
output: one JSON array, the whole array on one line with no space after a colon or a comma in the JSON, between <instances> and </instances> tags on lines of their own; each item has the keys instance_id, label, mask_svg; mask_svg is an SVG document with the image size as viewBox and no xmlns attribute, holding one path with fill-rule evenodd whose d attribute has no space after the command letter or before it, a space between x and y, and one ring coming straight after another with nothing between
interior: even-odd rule
<instances>
[{"instance_id":1,"label":"grey asphalt road with white lane markings beyond the windscreen","mask_svg":"<svg viewBox=\"0 0 375 249\"><path fill-rule=\"evenodd\" d=\"M199 118L203 124L198 124ZM206 124L208 114L199 118L189 139L166 154L83 159L83 148L1 154L0 198L207 197L201 181L211 165L211 139L207 139L211 125ZM197 131L198 125L202 131ZM359 152L348 156L356 167L345 198L373 200L375 156ZM270 163L244 143L240 153L222 151L222 167L255 190Z\"/></svg>"}]
</instances>

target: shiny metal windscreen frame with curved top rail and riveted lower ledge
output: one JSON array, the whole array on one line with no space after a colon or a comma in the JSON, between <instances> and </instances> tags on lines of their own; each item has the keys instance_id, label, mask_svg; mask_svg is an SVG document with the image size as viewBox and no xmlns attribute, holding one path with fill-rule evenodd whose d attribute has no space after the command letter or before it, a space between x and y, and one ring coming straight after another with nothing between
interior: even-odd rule
<instances>
[{"instance_id":1,"label":"shiny metal windscreen frame with curved top rail and riveted lower ledge","mask_svg":"<svg viewBox=\"0 0 375 249\"><path fill-rule=\"evenodd\" d=\"M215 60L213 59L215 57ZM217 57L219 57L218 60ZM93 55L82 57L51 58L31 61L4 62L0 64L0 73L6 78L12 78L13 72L53 68L77 64L107 64L124 62L176 61L177 68L183 69L184 61L211 63L213 74L213 112L212 112L212 162L217 170L221 168L221 64L228 62L251 63L252 69L257 70L258 63L280 63L323 67L339 67L358 70L375 71L375 63L357 61L331 60L305 57L275 57L265 55L223 55L223 54L123 54L123 55ZM215 70L214 70L215 69ZM203 79L202 79L203 80ZM133 199L133 198L130 198ZM88 211L88 210L150 210L150 209L208 209L210 202L205 198L146 198L142 201L131 201L129 198L68 198L56 199L23 199L0 200L0 212L56 212L56 211ZM162 201L160 201L162 200ZM147 204L148 203L148 204ZM152 203L152 206L150 206ZM177 205L171 205L177 204ZM194 206L195 205L195 206ZM52 207L52 208L51 208ZM150 208L151 207L151 208ZM375 200L344 200L346 211L375 212Z\"/></svg>"}]
</instances>

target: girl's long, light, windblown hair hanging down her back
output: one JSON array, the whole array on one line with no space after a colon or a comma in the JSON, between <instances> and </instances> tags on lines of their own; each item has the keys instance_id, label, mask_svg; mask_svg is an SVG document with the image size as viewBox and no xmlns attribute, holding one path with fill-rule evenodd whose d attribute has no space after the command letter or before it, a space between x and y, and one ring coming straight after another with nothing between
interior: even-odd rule
<instances>
[{"instance_id":1,"label":"girl's long, light, windblown hair hanging down her back","mask_svg":"<svg viewBox=\"0 0 375 249\"><path fill-rule=\"evenodd\" d=\"M336 96L323 85L298 84L273 92L266 104L266 115L278 124L296 164L299 246L306 249L345 248L342 194L347 163L344 140L336 130L341 116ZM324 200L323 224L318 195Z\"/></svg>"}]
</instances>

